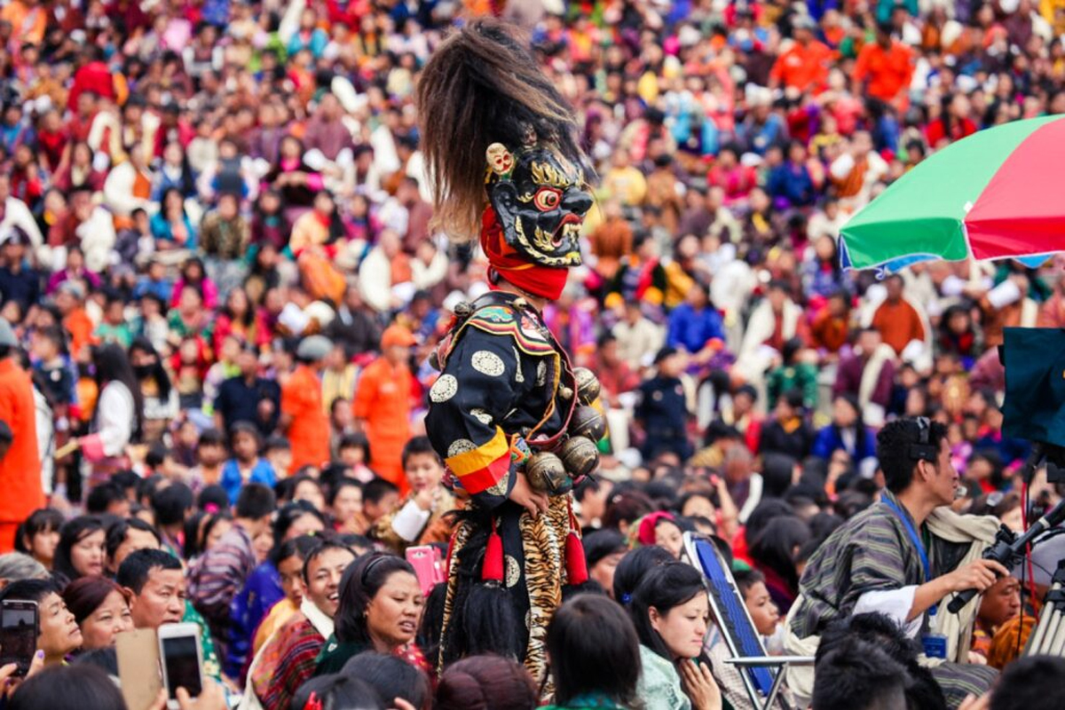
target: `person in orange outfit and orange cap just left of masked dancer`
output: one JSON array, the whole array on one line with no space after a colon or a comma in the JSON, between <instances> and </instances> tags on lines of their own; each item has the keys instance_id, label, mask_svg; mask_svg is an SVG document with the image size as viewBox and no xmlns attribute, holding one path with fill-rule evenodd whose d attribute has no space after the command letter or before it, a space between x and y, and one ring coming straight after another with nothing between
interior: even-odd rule
<instances>
[{"instance_id":1,"label":"person in orange outfit and orange cap just left of masked dancer","mask_svg":"<svg viewBox=\"0 0 1065 710\"><path fill-rule=\"evenodd\" d=\"M410 439L410 348L414 335L403 326L391 326L381 335L381 354L363 370L355 392L353 411L370 440L370 467L395 483L400 495L410 490L403 469L403 447Z\"/></svg>"}]
</instances>

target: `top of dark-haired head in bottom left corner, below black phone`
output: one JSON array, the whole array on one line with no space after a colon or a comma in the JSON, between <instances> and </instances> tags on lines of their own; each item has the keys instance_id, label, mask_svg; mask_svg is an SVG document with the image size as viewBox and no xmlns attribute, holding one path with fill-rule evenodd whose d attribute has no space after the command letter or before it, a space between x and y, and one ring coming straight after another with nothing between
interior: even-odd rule
<instances>
[{"instance_id":1,"label":"top of dark-haired head in bottom left corner, below black phone","mask_svg":"<svg viewBox=\"0 0 1065 710\"><path fill-rule=\"evenodd\" d=\"M6 710L115 710L126 701L102 668L88 663L58 665L27 678Z\"/></svg>"}]
</instances>

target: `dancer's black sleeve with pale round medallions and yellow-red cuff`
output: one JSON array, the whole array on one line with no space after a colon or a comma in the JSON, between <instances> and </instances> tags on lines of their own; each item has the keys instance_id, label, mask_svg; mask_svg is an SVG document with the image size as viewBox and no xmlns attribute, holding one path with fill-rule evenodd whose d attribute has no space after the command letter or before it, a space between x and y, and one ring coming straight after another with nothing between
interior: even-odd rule
<instances>
[{"instance_id":1,"label":"dancer's black sleeve with pale round medallions and yellow-red cuff","mask_svg":"<svg viewBox=\"0 0 1065 710\"><path fill-rule=\"evenodd\" d=\"M499 426L521 396L522 363L507 335L468 328L429 391L426 429L448 470L478 502L502 505L517 476Z\"/></svg>"}]
</instances>

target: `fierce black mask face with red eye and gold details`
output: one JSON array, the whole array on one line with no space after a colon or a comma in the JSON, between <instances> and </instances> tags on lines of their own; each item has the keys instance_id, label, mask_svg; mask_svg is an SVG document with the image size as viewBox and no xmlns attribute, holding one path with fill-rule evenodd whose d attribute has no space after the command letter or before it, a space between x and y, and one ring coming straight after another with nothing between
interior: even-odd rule
<instances>
[{"instance_id":1,"label":"fierce black mask face with red eye and gold details","mask_svg":"<svg viewBox=\"0 0 1065 710\"><path fill-rule=\"evenodd\" d=\"M592 198L580 170L539 146L488 147L488 199L507 245L541 266L580 265L578 236Z\"/></svg>"}]
</instances>

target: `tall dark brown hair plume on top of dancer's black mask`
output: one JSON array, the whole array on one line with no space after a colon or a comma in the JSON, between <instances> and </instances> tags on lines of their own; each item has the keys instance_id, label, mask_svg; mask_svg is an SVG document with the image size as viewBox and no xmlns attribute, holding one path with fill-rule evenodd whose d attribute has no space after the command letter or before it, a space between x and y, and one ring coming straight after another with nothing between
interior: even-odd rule
<instances>
[{"instance_id":1,"label":"tall dark brown hair plume on top of dancer's black mask","mask_svg":"<svg viewBox=\"0 0 1065 710\"><path fill-rule=\"evenodd\" d=\"M454 238L480 232L485 153L493 143L522 146L531 132L591 175L573 108L511 26L484 18L457 30L425 65L414 98L435 221Z\"/></svg>"}]
</instances>

